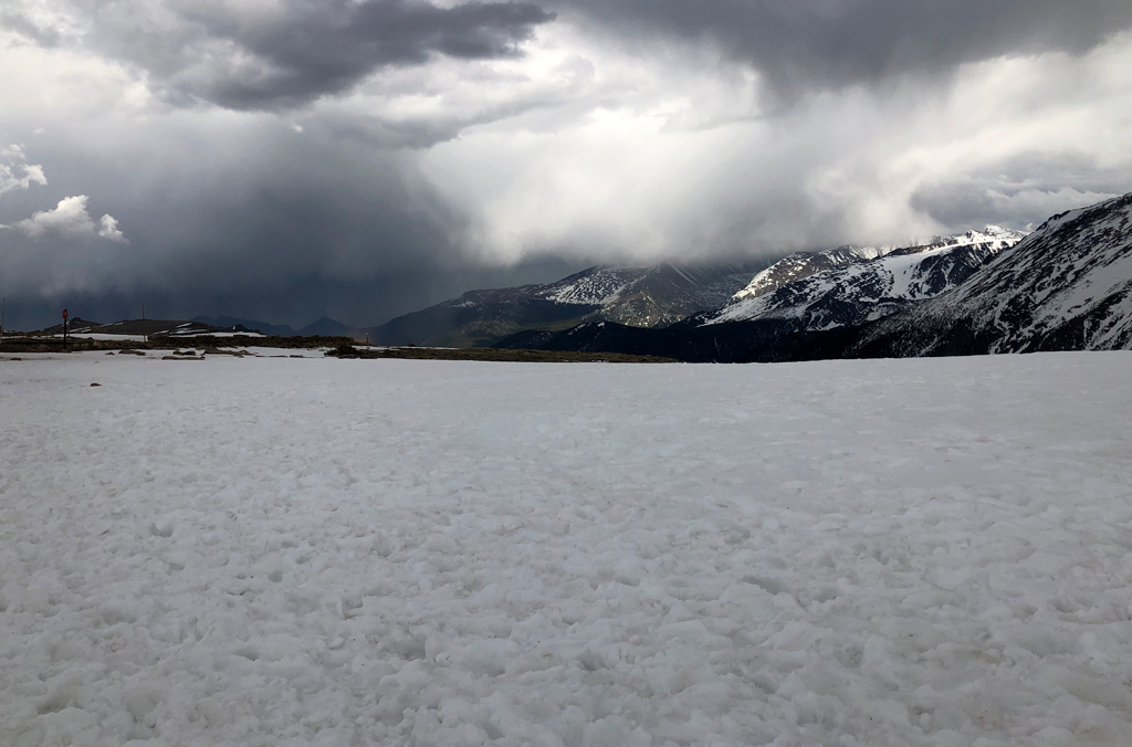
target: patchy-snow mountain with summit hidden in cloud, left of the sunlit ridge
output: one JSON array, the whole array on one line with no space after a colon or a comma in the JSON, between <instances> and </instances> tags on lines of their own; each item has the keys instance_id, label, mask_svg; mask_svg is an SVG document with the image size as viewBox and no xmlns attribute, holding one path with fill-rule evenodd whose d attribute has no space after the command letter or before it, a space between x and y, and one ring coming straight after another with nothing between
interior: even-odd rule
<instances>
[{"instance_id":1,"label":"patchy-snow mountain with summit hidden in cloud, left of the sunlit ridge","mask_svg":"<svg viewBox=\"0 0 1132 747\"><path fill-rule=\"evenodd\" d=\"M560 281L470 291L370 328L379 344L483 345L521 329L588 320L662 327L718 308L762 265L590 267Z\"/></svg>"}]
</instances>

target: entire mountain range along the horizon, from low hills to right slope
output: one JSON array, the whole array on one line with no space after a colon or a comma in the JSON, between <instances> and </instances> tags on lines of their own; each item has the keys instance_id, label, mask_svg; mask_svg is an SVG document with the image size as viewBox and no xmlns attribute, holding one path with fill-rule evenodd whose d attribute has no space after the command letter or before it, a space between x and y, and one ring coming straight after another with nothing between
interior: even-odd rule
<instances>
[{"instance_id":1,"label":"entire mountain range along the horizon, from low hills to right slope","mask_svg":"<svg viewBox=\"0 0 1132 747\"><path fill-rule=\"evenodd\" d=\"M470 291L377 327L197 317L72 319L71 329L171 325L717 362L1130 349L1132 194L1055 215L1030 234L988 225L908 247L796 252L770 266L594 266L554 283Z\"/></svg>"}]
</instances>

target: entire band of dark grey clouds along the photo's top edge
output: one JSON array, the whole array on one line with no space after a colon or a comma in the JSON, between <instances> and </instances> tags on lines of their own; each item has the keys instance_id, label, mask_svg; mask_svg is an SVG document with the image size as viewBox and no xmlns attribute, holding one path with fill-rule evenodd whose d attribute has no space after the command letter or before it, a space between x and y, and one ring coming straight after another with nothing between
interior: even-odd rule
<instances>
[{"instance_id":1,"label":"entire band of dark grey clouds along the photo's top edge","mask_svg":"<svg viewBox=\"0 0 1132 747\"><path fill-rule=\"evenodd\" d=\"M375 71L443 54L518 53L552 10L615 42L683 40L761 70L797 94L904 74L946 74L1003 54L1082 53L1132 26L1126 0L282 0L277 5L170 0L153 6L75 0L71 31L31 14L0 27L43 45L65 38L144 70L181 105L280 110L350 91ZM88 31L77 34L74 28ZM66 32L66 33L65 33Z\"/></svg>"}]
</instances>

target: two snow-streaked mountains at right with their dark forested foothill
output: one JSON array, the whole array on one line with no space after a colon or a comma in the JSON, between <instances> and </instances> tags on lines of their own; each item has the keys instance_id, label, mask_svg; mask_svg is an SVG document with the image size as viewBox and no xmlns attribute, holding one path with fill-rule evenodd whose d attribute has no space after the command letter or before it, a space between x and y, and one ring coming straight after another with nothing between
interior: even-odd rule
<instances>
[{"instance_id":1,"label":"two snow-streaked mountains at right with their dark forested foothill","mask_svg":"<svg viewBox=\"0 0 1132 747\"><path fill-rule=\"evenodd\" d=\"M526 330L504 347L786 361L1132 346L1132 195L899 249L791 255L668 326Z\"/></svg>"}]
</instances>

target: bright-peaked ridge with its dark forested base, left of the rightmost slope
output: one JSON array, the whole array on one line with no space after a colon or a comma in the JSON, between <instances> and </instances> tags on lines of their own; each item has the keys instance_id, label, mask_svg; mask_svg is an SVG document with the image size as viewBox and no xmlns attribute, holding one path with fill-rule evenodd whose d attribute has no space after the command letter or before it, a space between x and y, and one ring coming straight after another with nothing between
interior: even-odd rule
<instances>
[{"instance_id":1,"label":"bright-peaked ridge with its dark forested base, left of the rightmost slope","mask_svg":"<svg viewBox=\"0 0 1132 747\"><path fill-rule=\"evenodd\" d=\"M728 304L662 329L590 323L557 332L531 329L501 340L498 346L686 361L839 358L869 323L962 287L986 263L1013 251L1022 235L987 226L917 247L840 247L818 252L821 258L801 271L797 269L801 260L811 256L794 255L778 269L756 276L744 289L748 292L736 294ZM826 267L797 276L816 264Z\"/></svg>"}]
</instances>

